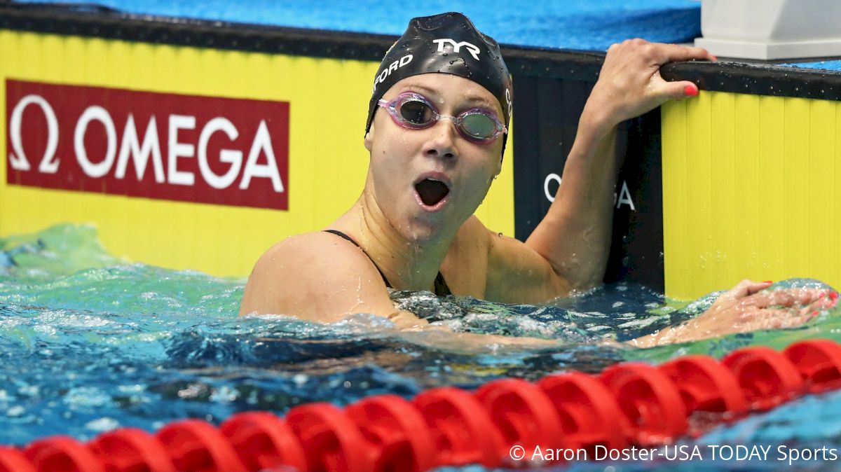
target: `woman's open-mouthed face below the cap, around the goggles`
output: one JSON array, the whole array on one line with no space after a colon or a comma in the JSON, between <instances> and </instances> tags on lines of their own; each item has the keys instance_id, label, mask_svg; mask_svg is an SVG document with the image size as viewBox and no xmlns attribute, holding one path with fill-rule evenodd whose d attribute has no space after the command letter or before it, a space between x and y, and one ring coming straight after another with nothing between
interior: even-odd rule
<instances>
[{"instance_id":1,"label":"woman's open-mouthed face below the cap, around the goggles","mask_svg":"<svg viewBox=\"0 0 841 472\"><path fill-rule=\"evenodd\" d=\"M407 77L383 95L386 101L415 92L442 115L485 108L502 120L500 103L479 84L451 74ZM422 243L454 234L479 207L500 172L502 136L487 144L458 133L449 119L429 128L408 129L379 108L365 137L371 151L366 191L373 192L385 218L406 239Z\"/></svg>"}]
</instances>

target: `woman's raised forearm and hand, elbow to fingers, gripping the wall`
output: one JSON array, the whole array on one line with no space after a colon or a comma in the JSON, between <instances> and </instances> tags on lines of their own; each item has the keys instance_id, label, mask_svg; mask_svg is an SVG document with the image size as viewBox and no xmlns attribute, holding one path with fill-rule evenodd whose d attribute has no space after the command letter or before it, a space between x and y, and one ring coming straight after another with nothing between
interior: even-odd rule
<instances>
[{"instance_id":1,"label":"woman's raised forearm and hand, elbow to fingers, gripping the wall","mask_svg":"<svg viewBox=\"0 0 841 472\"><path fill-rule=\"evenodd\" d=\"M616 185L616 125L669 99L697 95L690 81L667 82L667 62L714 60L706 50L631 39L607 50L604 66L579 119L563 180L545 218L526 245L574 289L601 283L611 243Z\"/></svg>"}]
</instances>

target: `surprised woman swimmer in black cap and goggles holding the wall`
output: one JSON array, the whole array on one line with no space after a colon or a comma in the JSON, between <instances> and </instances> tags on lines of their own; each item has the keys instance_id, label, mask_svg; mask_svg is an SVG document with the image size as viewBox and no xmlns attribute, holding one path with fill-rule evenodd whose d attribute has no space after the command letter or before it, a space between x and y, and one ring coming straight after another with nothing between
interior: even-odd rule
<instances>
[{"instance_id":1,"label":"surprised woman swimmer in black cap and goggles holding the wall","mask_svg":"<svg viewBox=\"0 0 841 472\"><path fill-rule=\"evenodd\" d=\"M325 231L268 249L251 272L241 315L334 323L373 313L399 328L425 330L425 320L395 311L389 288L537 304L598 286L611 243L616 126L668 100L697 95L694 83L659 75L660 66L680 60L715 58L700 48L643 39L607 50L554 202L521 242L473 216L502 169L514 99L499 45L460 13L413 18L374 77L362 195ZM835 302L828 291L764 291L770 285L743 281L690 322L631 343L797 326Z\"/></svg>"}]
</instances>

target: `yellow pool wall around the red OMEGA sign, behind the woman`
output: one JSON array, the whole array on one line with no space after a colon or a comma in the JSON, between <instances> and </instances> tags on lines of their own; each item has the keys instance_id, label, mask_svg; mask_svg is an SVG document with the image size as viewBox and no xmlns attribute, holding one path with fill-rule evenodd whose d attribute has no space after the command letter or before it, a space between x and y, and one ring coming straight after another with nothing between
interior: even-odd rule
<instances>
[{"instance_id":1,"label":"yellow pool wall around the red OMEGA sign, behind the woman","mask_svg":"<svg viewBox=\"0 0 841 472\"><path fill-rule=\"evenodd\" d=\"M226 202L224 194L221 197L212 193L210 197L191 197L198 202L185 202L158 192L149 194L149 188L135 188L135 191L115 195L116 187L113 185L102 191L90 188L79 191L68 189L67 184L60 188L38 188L19 185L15 181L9 183L9 169L17 172L13 179L24 172L11 166L15 162L19 164L19 161L9 157L15 153L13 149L8 149L11 124L8 117L13 114L13 108L19 104L21 97L15 96L16 103L7 103L7 97L11 95L8 90L4 91L0 94L0 104L6 110L0 118L3 121L0 151L7 156L7 163L0 166L0 237L32 233L56 223L93 223L108 252L126 260L173 269L202 270L214 275L242 276L249 273L257 257L269 246L295 233L325 228L345 212L362 191L368 168L368 151L363 147L362 134L371 82L378 66L374 62L151 45L8 30L0 30L0 57L3 58L0 60L0 83L3 84L9 81L34 82L123 91L103 92L109 97L116 97L118 93L124 94L119 97L130 97L137 92L167 94L167 97L219 97L288 104L288 175L282 176L282 186L277 185L281 178L279 174L274 181L274 191L287 192L283 196L288 199L287 209L284 210L238 206L230 202L208 203ZM35 113L33 110L37 111L41 105L33 100L20 113ZM108 102L108 97L103 100ZM109 176L116 173L114 178L119 178L119 170L115 169L122 165L123 169L129 169L124 170L128 176L122 178L128 179L134 168L131 163L121 162L119 158L123 149L132 149L124 139L126 127L123 123L127 117L114 112L114 108L119 107L116 103L113 105L112 108L103 105L104 112L86 109L85 123L93 124L85 129L93 131L81 138L82 142L84 139L96 139L99 126L103 128L100 132L103 142L110 143L110 120L115 136L114 157L109 162L111 166L107 169L97 167L96 158L92 155L91 162L83 167L91 172L110 172ZM234 128L226 128L225 123L217 121L214 122L216 128L207 134L211 137L202 141L200 134L208 129L207 123L191 125L189 119L172 118L186 115L169 113L168 128L163 117L156 116L158 126L168 129L169 133L166 137L162 134L158 136L160 149L167 149L167 144L169 146L165 155L161 156L164 167L167 167L167 153L176 159L181 153L180 162L192 163L201 152L203 143L212 147L213 139L223 139L225 133L229 139L238 133L245 134L244 128L236 128L239 124L235 120L230 123L237 130L235 134L231 131ZM33 119L29 115L21 116L24 117L22 120ZM60 118L57 121L61 121ZM46 123L44 118L40 119ZM144 130L148 131L145 123L141 123L140 118L134 123L137 139L133 143L137 144L137 148L135 151L124 151L135 152L131 155L135 160L142 154L140 145L148 138L140 136ZM186 175L190 172L176 164L161 171L164 183L186 186L193 179L205 186L213 186L213 182L217 186L226 183L228 186L218 191L231 191L226 189L246 185L242 182L249 180L244 178L249 172L246 169L248 165L251 165L250 181L265 180L272 170L260 170L260 165L265 167L267 149L277 151L270 146L275 141L271 141L268 134L272 133L274 139L275 132L271 128L272 123L269 124L265 139L258 139L260 132L257 125L254 127L256 131L250 132L253 137L243 138L248 144L243 144L244 147L237 151L241 152L241 170L236 176L232 174L232 179L222 178L220 168L213 170L207 166L202 172L192 172L193 177L188 178ZM74 129L72 125L68 126L68 129ZM31 133L24 125L20 128L24 128L21 133ZM61 144L56 149L71 146L65 140L73 139L67 136L71 131L61 129L61 136L57 138ZM181 136L189 136L193 132L194 141L179 141L182 139L178 138L179 130ZM213 133L216 138L212 137ZM76 138L78 141L79 138ZM514 233L512 138L509 136L505 169L477 212L489 228L510 235ZM44 153L45 147L48 144L38 151ZM216 147L220 147L219 144ZM254 151L253 159L250 155L252 148L259 148ZM104 146L103 149L106 149L103 150L105 157L99 159L108 160L110 148ZM153 165L150 163L155 153L148 150L147 155L151 157L146 161L145 179L152 179ZM71 156L56 155L56 161L62 159L70 160ZM180 177L175 179L173 176ZM203 176L216 176L216 179L202 180ZM271 197L274 194L268 192L267 195Z\"/></svg>"}]
</instances>

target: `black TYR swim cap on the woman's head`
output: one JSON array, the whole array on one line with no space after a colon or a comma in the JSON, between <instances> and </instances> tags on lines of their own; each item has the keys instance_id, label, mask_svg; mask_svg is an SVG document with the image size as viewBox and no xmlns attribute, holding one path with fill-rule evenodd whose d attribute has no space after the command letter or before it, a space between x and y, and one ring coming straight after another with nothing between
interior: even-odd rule
<instances>
[{"instance_id":1,"label":"black TYR swim cap on the woman's head","mask_svg":"<svg viewBox=\"0 0 841 472\"><path fill-rule=\"evenodd\" d=\"M431 72L462 76L488 89L499 100L508 125L513 90L500 45L462 13L450 12L412 18L403 36L385 53L374 76L365 133L371 128L378 100L389 88L406 77ZM503 149L507 137L506 133L502 138Z\"/></svg>"}]
</instances>

